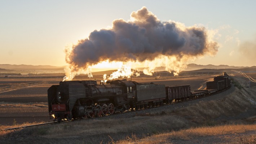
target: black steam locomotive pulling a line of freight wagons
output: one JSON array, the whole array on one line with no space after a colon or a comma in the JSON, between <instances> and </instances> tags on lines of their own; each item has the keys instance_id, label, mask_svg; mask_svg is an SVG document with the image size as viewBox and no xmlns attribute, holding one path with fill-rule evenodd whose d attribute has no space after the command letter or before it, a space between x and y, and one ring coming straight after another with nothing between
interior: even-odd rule
<instances>
[{"instance_id":1,"label":"black steam locomotive pulling a line of freight wagons","mask_svg":"<svg viewBox=\"0 0 256 144\"><path fill-rule=\"evenodd\" d=\"M60 122L136 111L217 93L230 87L231 83L229 76L223 73L206 85L206 90L191 92L190 85L139 84L127 80L100 85L95 80L64 81L48 89L49 115Z\"/></svg>"}]
</instances>

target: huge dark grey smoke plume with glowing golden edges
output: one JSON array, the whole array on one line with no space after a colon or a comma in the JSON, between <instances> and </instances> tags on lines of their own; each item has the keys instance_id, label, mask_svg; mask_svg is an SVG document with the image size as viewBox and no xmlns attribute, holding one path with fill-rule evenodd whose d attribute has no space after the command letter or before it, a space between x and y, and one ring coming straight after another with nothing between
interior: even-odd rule
<instances>
[{"instance_id":1,"label":"huge dark grey smoke plume with glowing golden edges","mask_svg":"<svg viewBox=\"0 0 256 144\"><path fill-rule=\"evenodd\" d=\"M88 68L107 60L124 65L127 62L143 63L146 75L152 75L158 66L177 74L186 68L188 60L216 54L218 44L211 40L208 32L202 26L185 27L178 22L161 22L142 7L132 12L130 21L116 19L112 28L95 30L88 39L66 49L66 62L70 64L67 75L74 76L81 71L90 74Z\"/></svg>"}]
</instances>

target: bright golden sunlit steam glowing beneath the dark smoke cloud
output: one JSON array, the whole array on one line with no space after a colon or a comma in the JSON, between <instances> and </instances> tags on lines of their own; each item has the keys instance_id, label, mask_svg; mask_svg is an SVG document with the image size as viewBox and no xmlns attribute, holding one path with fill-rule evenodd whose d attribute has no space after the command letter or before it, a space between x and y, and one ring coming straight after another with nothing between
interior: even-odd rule
<instances>
[{"instance_id":1,"label":"bright golden sunlit steam glowing beneath the dark smoke cloud","mask_svg":"<svg viewBox=\"0 0 256 144\"><path fill-rule=\"evenodd\" d=\"M80 74L87 74L89 78L92 78L92 72L96 71L106 71L106 70L113 70L118 69L116 72L113 72L111 75L104 75L103 78L106 82L106 80L113 80L115 78L130 78L131 76L140 76L141 73L144 73L145 75L152 76L155 68L163 66L165 67L165 71L173 72L174 76L177 76L178 73L184 69L186 69L186 62L188 58L193 59L193 57L189 57L186 55L183 55L182 58L177 58L177 56L165 56L160 55L159 57L156 57L154 60L145 60L144 62L109 62L109 60L105 60L102 62L99 62L95 65L88 66L87 69L80 68L76 72L72 72L69 67L65 69L66 76L63 78L63 81L72 80L74 76L80 75ZM138 67L140 69L142 68L142 71L138 70Z\"/></svg>"}]
</instances>

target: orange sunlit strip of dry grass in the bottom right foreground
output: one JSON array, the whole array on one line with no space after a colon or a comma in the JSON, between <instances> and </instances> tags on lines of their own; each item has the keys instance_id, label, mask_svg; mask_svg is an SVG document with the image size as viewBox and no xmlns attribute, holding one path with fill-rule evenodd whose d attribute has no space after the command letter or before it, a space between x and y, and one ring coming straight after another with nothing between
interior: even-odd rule
<instances>
[{"instance_id":1,"label":"orange sunlit strip of dry grass in the bottom right foreground","mask_svg":"<svg viewBox=\"0 0 256 144\"><path fill-rule=\"evenodd\" d=\"M224 125L213 127L196 127L185 130L171 131L163 134L156 134L150 137L145 137L143 139L139 139L136 135L133 135L132 137L127 137L125 140L117 141L116 144L156 144L163 142L166 143L171 139L189 140L197 137L238 134L246 131L256 131L256 125ZM256 142L255 138L255 136L251 136L251 139L247 139L247 141Z\"/></svg>"}]
</instances>

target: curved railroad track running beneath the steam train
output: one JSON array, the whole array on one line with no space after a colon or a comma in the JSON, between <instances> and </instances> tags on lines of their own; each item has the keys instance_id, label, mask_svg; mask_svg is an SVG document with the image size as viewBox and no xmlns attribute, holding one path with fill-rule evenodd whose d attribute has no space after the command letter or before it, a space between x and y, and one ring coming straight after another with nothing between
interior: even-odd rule
<instances>
[{"instance_id":1,"label":"curved railroad track running beneath the steam train","mask_svg":"<svg viewBox=\"0 0 256 144\"><path fill-rule=\"evenodd\" d=\"M230 86L231 87L231 86ZM228 87L228 89L230 88ZM228 89L224 89L223 91L226 91ZM213 94L209 94L209 95L205 95L205 96L198 96L198 97L195 97L195 98L191 98L191 99L187 99L187 100L180 100L180 101L177 101L177 102L172 102L172 103L168 103L168 104L162 104L162 105L158 105L158 106L155 106L155 107L151 107L151 108L158 108L158 107L163 107L165 105L170 105L170 104L176 104L176 103L182 103L182 102L187 102L187 101L190 101L190 100L195 100L195 99L200 99L200 98L205 98L207 96L211 96L211 95L215 95L215 94L219 94L223 91L219 91L217 93L213 93ZM111 115L107 115L107 116L114 116L114 115L117 115L117 114L122 114L122 113L129 113L129 112L136 112L136 111L143 111L143 110L146 110L146 109L151 109L151 108L142 108L142 109L137 109L137 110L134 110L134 111L127 111L127 112L115 112L114 114L111 114ZM94 118L102 118L102 116L99 116L99 117L94 117ZM76 121L79 121L79 120L90 120L91 118L86 118L86 119L78 119ZM62 121L62 122L68 122L68 121ZM72 121L71 121L72 122ZM53 124L57 124L59 122L55 121L55 122L47 122L47 123L40 123L40 124L36 124L36 125L28 125L28 126L21 126L21 127L13 127L13 128L9 128L9 129L3 129L3 130L0 130L0 131L9 131L9 130L19 130L19 129L22 129L22 128L26 128L26 127L36 127L36 126L45 126L45 125L53 125Z\"/></svg>"}]
</instances>

